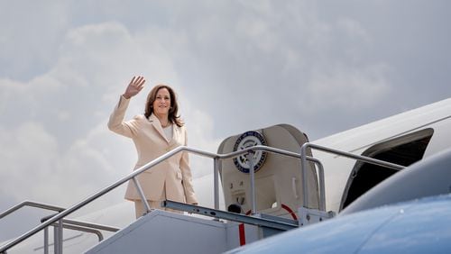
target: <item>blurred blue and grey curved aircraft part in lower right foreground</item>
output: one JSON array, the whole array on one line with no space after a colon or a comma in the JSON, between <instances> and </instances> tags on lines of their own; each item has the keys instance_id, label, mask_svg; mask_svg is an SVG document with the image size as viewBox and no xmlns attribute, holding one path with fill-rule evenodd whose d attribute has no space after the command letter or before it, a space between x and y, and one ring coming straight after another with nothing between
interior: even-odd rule
<instances>
[{"instance_id":1,"label":"blurred blue and grey curved aircraft part in lower right foreground","mask_svg":"<svg viewBox=\"0 0 451 254\"><path fill-rule=\"evenodd\" d=\"M405 168L332 220L226 253L449 253L451 149Z\"/></svg>"}]
</instances>

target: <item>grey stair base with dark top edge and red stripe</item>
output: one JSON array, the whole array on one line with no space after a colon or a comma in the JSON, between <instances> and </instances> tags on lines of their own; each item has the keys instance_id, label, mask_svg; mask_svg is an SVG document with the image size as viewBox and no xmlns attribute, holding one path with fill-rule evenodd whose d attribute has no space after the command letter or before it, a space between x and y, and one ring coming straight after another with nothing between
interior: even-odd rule
<instances>
[{"instance_id":1,"label":"grey stair base with dark top edge and red stripe","mask_svg":"<svg viewBox=\"0 0 451 254\"><path fill-rule=\"evenodd\" d=\"M271 215L246 216L171 201L163 206L214 219L152 210L87 253L125 253L132 249L133 253L222 253L298 228L296 221Z\"/></svg>"}]
</instances>

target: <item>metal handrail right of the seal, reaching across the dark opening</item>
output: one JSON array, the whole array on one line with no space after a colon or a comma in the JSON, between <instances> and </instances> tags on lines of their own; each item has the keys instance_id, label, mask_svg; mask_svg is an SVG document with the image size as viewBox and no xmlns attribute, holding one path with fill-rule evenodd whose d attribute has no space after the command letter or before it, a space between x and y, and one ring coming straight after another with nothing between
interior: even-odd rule
<instances>
[{"instance_id":1,"label":"metal handrail right of the seal, reaching across the dark opening","mask_svg":"<svg viewBox=\"0 0 451 254\"><path fill-rule=\"evenodd\" d=\"M307 164L307 159L306 159L306 154L307 154L307 149L315 149L315 150L322 150L328 153L332 153L332 154L336 154L339 156L343 156L343 157L347 157L347 158L351 158L351 159L356 159L356 160L361 160L373 165L377 165L377 166L381 166L381 167L385 167L385 168L392 168L392 169L396 169L396 170L401 170L405 167L400 166L398 164L394 164L391 162L387 162L387 161L383 161L380 159L373 159L370 157L366 157L366 156L362 156L362 155L356 155L354 153L350 153L350 152L346 152L346 151L342 151L342 150L335 150L335 149L331 149L331 148L327 148L327 147L323 147L314 143L310 143L310 142L306 142L304 143L301 147L300 147L300 168L302 170L302 177L305 179L307 177L307 171L305 170L305 166ZM303 186L303 192L304 192L304 200L303 200L303 206L308 208L308 188L306 185Z\"/></svg>"}]
</instances>

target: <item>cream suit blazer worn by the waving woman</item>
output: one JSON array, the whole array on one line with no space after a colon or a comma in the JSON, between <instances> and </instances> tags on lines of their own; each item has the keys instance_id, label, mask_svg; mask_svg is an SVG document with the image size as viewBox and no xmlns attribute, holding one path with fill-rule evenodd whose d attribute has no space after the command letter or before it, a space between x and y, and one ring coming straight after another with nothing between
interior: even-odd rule
<instances>
[{"instance_id":1,"label":"cream suit blazer worn by the waving woman","mask_svg":"<svg viewBox=\"0 0 451 254\"><path fill-rule=\"evenodd\" d=\"M187 131L184 126L172 124L172 139L168 140L160 121L154 114L149 119L144 115L136 115L132 120L124 122L124 114L129 102L130 99L121 95L119 103L111 113L108 128L133 140L138 152L138 161L134 169L143 167L170 150L187 145ZM181 152L170 159L163 160L137 178L148 200L160 201L164 188L167 199L188 204L198 203L192 186L187 152ZM125 199L141 200L133 181L128 182Z\"/></svg>"}]
</instances>

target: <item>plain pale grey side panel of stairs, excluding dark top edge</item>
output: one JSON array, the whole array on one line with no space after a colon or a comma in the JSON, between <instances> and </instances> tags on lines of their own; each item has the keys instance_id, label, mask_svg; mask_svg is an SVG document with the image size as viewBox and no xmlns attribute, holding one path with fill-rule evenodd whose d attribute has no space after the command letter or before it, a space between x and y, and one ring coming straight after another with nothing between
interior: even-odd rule
<instances>
[{"instance_id":1,"label":"plain pale grey side panel of stairs, excluding dark top edge","mask_svg":"<svg viewBox=\"0 0 451 254\"><path fill-rule=\"evenodd\" d=\"M86 253L222 253L239 247L238 225L153 210ZM257 240L252 230L247 240Z\"/></svg>"}]
</instances>

